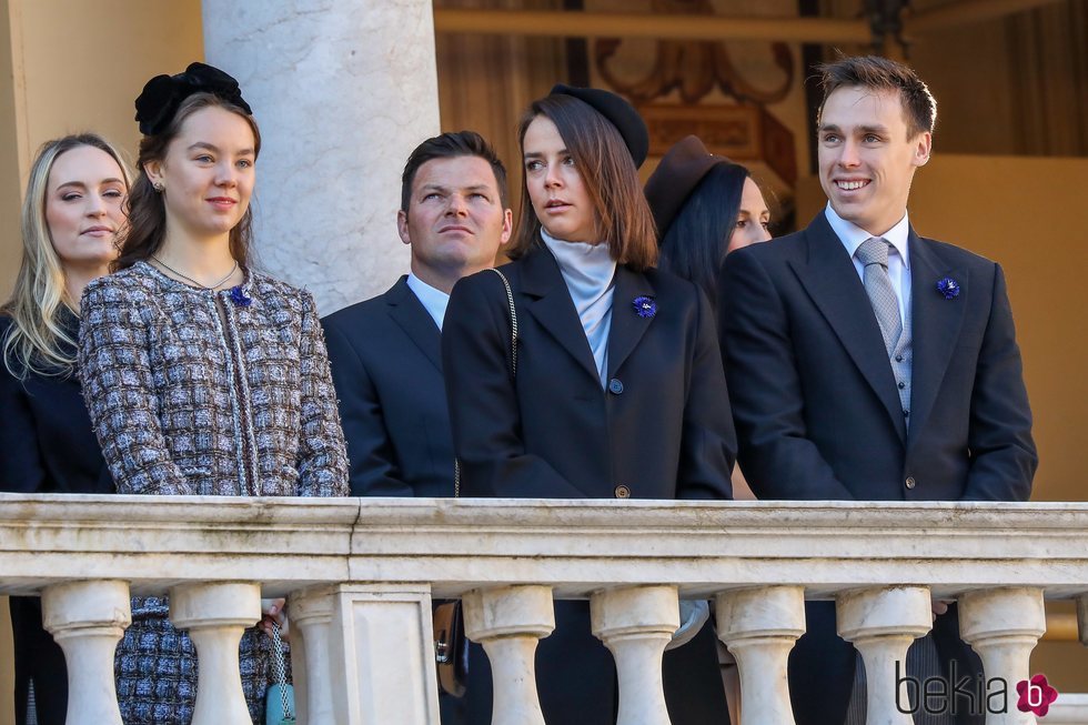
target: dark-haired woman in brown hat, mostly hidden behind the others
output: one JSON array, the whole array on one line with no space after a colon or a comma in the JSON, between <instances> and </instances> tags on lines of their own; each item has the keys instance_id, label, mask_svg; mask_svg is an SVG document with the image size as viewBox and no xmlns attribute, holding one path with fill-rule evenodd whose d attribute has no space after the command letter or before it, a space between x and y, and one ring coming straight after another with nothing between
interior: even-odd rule
<instances>
[{"instance_id":1,"label":"dark-haired woman in brown hat, mostly hidden behind the others","mask_svg":"<svg viewBox=\"0 0 1088 725\"><path fill-rule=\"evenodd\" d=\"M698 284L714 304L725 255L770 240L770 212L752 174L694 135L662 158L646 200L661 240L658 266Z\"/></svg>"}]
</instances>

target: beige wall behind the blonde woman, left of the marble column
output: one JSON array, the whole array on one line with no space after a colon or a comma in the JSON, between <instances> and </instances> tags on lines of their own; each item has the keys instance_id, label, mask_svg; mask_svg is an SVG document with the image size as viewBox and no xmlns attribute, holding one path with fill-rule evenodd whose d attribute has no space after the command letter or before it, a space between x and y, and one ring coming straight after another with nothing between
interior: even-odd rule
<instances>
[{"instance_id":1,"label":"beige wall behind the blonde woman, left of the marble column","mask_svg":"<svg viewBox=\"0 0 1088 725\"><path fill-rule=\"evenodd\" d=\"M130 158L133 101L203 58L200 0L0 0L0 296L20 259L18 204L34 150L98 131ZM6 30L7 32L3 32Z\"/></svg>"}]
</instances>

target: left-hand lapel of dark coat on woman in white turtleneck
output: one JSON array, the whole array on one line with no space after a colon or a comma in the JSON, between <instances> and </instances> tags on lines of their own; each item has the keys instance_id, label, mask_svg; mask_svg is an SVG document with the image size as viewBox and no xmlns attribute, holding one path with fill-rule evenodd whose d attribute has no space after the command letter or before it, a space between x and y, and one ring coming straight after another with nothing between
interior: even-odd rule
<instances>
[{"instance_id":1,"label":"left-hand lapel of dark coat on woman in white turtleneck","mask_svg":"<svg viewBox=\"0 0 1088 725\"><path fill-rule=\"evenodd\" d=\"M600 385L593 351L552 252L543 245L530 252L523 258L521 276L528 312Z\"/></svg>"}]
</instances>

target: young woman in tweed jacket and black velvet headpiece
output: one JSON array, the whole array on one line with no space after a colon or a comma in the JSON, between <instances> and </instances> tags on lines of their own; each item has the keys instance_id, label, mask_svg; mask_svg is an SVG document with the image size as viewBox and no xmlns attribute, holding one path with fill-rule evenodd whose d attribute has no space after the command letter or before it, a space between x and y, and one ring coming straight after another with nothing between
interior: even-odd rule
<instances>
[{"instance_id":1,"label":"young woman in tweed jacket and black velvet headpiece","mask_svg":"<svg viewBox=\"0 0 1088 725\"><path fill-rule=\"evenodd\" d=\"M253 269L261 137L236 81L203 63L158 75L137 99L137 121L143 139L117 271L88 284L80 306L83 395L118 492L346 495L313 298ZM117 650L127 725L193 716L197 656L169 610L162 596L132 600ZM241 641L254 723L269 644L258 628Z\"/></svg>"}]
</instances>

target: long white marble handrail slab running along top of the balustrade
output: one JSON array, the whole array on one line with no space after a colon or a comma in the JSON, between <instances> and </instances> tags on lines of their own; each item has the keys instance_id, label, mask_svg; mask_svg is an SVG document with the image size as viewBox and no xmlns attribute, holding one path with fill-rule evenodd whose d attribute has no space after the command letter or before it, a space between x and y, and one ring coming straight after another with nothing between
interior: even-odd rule
<instances>
[{"instance_id":1,"label":"long white marble handrail slab running along top of the balustrade","mask_svg":"<svg viewBox=\"0 0 1088 725\"><path fill-rule=\"evenodd\" d=\"M560 596L874 584L936 595L1088 592L1088 503L243 499L0 494L0 592L124 578L137 593L254 580L431 582L439 595L541 583Z\"/></svg>"}]
</instances>

